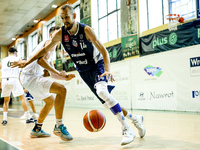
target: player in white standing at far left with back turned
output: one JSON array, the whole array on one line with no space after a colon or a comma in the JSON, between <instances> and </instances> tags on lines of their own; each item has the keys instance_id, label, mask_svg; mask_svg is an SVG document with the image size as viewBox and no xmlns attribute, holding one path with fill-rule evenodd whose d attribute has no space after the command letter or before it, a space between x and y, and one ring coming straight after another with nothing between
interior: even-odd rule
<instances>
[{"instance_id":1,"label":"player in white standing at far left with back turned","mask_svg":"<svg viewBox=\"0 0 200 150\"><path fill-rule=\"evenodd\" d=\"M18 61L17 49L11 47L9 49L9 56L2 59L1 62L1 78L2 78L2 93L4 97L3 103L3 122L2 125L7 124L8 105L10 102L10 94L12 92L14 97L19 97L22 102L22 107L25 111L26 123L33 123L34 120L28 111L28 106L24 97L24 90L19 82L19 68L11 68L10 62Z\"/></svg>"}]
</instances>

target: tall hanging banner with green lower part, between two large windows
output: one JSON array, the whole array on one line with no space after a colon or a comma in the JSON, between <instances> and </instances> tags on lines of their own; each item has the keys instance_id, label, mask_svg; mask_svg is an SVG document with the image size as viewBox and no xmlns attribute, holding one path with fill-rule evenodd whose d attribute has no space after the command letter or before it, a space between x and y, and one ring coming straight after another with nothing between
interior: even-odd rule
<instances>
[{"instance_id":1,"label":"tall hanging banner with green lower part, between two large windows","mask_svg":"<svg viewBox=\"0 0 200 150\"><path fill-rule=\"evenodd\" d=\"M139 54L137 0L121 1L121 45L124 58Z\"/></svg>"}]
</instances>

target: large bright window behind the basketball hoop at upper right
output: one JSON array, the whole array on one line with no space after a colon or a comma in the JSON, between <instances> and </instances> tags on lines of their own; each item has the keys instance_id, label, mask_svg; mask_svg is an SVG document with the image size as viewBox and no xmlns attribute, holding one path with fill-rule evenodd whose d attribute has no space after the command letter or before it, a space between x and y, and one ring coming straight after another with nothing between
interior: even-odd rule
<instances>
[{"instance_id":1,"label":"large bright window behind the basketball hoop at upper right","mask_svg":"<svg viewBox=\"0 0 200 150\"><path fill-rule=\"evenodd\" d=\"M196 0L140 0L140 33L169 23L168 14L179 14L185 20L195 18ZM198 0L197 0L198 1Z\"/></svg>"}]
</instances>

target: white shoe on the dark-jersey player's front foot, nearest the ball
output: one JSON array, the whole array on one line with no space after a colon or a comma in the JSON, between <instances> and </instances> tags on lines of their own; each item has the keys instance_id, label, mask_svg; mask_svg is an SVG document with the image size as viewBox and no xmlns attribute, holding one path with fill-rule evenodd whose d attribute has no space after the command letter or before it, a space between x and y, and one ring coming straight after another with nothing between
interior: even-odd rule
<instances>
[{"instance_id":1,"label":"white shoe on the dark-jersey player's front foot, nearest the ball","mask_svg":"<svg viewBox=\"0 0 200 150\"><path fill-rule=\"evenodd\" d=\"M135 132L131 128L122 128L122 141L121 145L131 143L135 138Z\"/></svg>"}]
</instances>

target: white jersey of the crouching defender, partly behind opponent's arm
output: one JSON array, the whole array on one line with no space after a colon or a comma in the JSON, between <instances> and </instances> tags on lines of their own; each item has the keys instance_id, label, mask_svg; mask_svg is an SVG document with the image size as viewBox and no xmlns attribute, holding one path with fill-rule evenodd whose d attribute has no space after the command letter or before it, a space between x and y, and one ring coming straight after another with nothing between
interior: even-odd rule
<instances>
[{"instance_id":1,"label":"white jersey of the crouching defender, partly behind opponent's arm","mask_svg":"<svg viewBox=\"0 0 200 150\"><path fill-rule=\"evenodd\" d=\"M30 58L36 54L38 51L40 51L43 47L46 41L40 42L40 44L34 49L34 51L30 54ZM22 72L29 75L37 75L42 76L44 74L43 70L44 68L41 67L38 63L38 60L35 60L34 62L27 65L25 68L22 69Z\"/></svg>"}]
</instances>

